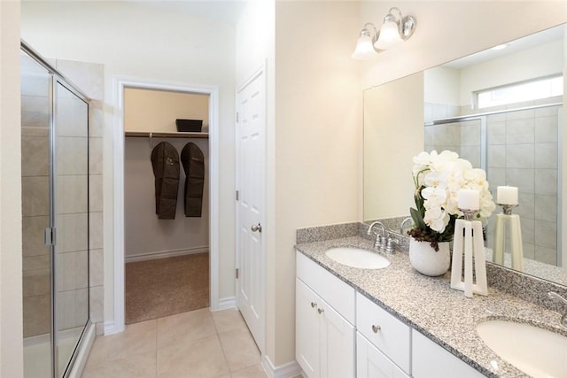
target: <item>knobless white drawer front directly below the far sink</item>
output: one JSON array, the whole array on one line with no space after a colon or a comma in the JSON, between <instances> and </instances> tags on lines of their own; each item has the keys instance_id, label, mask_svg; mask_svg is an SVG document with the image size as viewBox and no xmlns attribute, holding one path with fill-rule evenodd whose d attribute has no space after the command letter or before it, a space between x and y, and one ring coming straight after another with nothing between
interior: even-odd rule
<instances>
[{"instance_id":1,"label":"knobless white drawer front directly below the far sink","mask_svg":"<svg viewBox=\"0 0 567 378\"><path fill-rule=\"evenodd\" d=\"M296 252L296 264L298 278L354 324L354 288L299 251Z\"/></svg>"}]
</instances>

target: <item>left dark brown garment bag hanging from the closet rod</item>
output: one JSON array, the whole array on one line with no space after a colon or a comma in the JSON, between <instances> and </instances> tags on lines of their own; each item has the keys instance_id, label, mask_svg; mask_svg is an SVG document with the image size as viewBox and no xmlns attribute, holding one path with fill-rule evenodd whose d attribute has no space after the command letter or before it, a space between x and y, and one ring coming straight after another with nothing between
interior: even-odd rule
<instances>
[{"instance_id":1,"label":"left dark brown garment bag hanging from the closet rod","mask_svg":"<svg viewBox=\"0 0 567 378\"><path fill-rule=\"evenodd\" d=\"M155 176L156 214L159 220L175 220L179 188L179 154L175 147L161 142L151 150Z\"/></svg>"}]
</instances>

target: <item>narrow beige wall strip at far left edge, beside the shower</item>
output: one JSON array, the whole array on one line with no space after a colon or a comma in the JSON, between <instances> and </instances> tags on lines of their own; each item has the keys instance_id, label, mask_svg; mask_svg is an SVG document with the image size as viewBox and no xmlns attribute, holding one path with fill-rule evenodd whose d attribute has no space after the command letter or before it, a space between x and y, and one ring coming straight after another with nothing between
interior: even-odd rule
<instances>
[{"instance_id":1,"label":"narrow beige wall strip at far left edge, beside the shower","mask_svg":"<svg viewBox=\"0 0 567 378\"><path fill-rule=\"evenodd\" d=\"M23 375L19 2L0 2L0 376ZM16 157L16 158L14 158Z\"/></svg>"}]
</instances>

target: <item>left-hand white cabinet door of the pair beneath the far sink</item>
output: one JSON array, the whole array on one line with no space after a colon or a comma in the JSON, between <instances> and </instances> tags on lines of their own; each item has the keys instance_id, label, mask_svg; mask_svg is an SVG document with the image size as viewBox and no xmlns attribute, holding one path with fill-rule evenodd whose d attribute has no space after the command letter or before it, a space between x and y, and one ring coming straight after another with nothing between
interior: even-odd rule
<instances>
[{"instance_id":1,"label":"left-hand white cabinet door of the pair beneath the far sink","mask_svg":"<svg viewBox=\"0 0 567 378\"><path fill-rule=\"evenodd\" d=\"M321 343L317 312L322 299L301 280L295 280L295 359L309 378L321 375Z\"/></svg>"}]
</instances>

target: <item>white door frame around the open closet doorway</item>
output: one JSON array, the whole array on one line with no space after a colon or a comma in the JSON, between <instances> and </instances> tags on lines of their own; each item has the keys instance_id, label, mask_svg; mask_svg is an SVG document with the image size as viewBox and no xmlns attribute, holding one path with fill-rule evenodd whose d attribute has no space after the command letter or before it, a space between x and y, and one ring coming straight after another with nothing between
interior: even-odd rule
<instances>
[{"instance_id":1,"label":"white door frame around the open closet doorway","mask_svg":"<svg viewBox=\"0 0 567 378\"><path fill-rule=\"evenodd\" d=\"M125 328L124 293L124 90L156 89L209 96L209 300L212 311L219 310L219 87L184 82L114 78L116 123L113 130L113 315L105 322L105 334Z\"/></svg>"}]
</instances>

